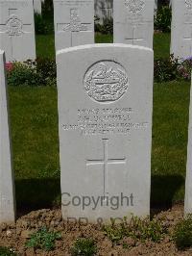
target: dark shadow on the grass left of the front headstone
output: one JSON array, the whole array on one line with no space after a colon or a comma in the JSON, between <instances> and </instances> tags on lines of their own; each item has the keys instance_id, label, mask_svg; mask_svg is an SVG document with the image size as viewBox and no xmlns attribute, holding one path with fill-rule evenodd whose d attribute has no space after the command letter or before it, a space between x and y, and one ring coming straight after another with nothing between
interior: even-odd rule
<instances>
[{"instance_id":1,"label":"dark shadow on the grass left of the front headstone","mask_svg":"<svg viewBox=\"0 0 192 256\"><path fill-rule=\"evenodd\" d=\"M15 191L17 212L22 215L38 209L60 207L60 179L16 180Z\"/></svg>"}]
</instances>

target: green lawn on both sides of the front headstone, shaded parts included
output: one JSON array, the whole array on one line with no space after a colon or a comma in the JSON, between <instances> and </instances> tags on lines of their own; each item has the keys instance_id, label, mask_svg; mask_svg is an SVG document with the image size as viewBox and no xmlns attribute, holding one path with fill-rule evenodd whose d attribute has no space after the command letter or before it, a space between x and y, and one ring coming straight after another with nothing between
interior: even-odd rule
<instances>
[{"instance_id":1,"label":"green lawn on both sides of the front headstone, shaded parts included","mask_svg":"<svg viewBox=\"0 0 192 256\"><path fill-rule=\"evenodd\" d=\"M57 90L12 87L9 92L17 205L50 206L60 198ZM155 84L153 205L183 199L188 104L189 83Z\"/></svg>"}]
</instances>

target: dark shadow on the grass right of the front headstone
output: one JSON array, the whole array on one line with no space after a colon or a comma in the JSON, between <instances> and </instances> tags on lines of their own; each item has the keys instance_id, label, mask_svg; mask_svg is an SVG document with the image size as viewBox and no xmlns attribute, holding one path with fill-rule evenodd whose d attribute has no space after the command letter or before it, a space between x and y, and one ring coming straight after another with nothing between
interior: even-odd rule
<instances>
[{"instance_id":1,"label":"dark shadow on the grass right of the front headstone","mask_svg":"<svg viewBox=\"0 0 192 256\"><path fill-rule=\"evenodd\" d=\"M168 210L184 184L182 175L152 175L151 209Z\"/></svg>"}]
</instances>

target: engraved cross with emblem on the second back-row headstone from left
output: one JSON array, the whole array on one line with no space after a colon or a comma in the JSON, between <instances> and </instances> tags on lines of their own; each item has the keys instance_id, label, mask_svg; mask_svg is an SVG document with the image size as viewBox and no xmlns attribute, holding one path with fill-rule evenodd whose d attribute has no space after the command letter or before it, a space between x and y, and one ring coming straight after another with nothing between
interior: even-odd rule
<instances>
[{"instance_id":1,"label":"engraved cross with emblem on the second back-row headstone from left","mask_svg":"<svg viewBox=\"0 0 192 256\"><path fill-rule=\"evenodd\" d=\"M84 32L90 31L90 23L82 23L78 9L70 10L70 22L69 23L58 23L57 30L58 32L70 32L71 37L71 46L73 46L73 34L75 32Z\"/></svg>"}]
</instances>

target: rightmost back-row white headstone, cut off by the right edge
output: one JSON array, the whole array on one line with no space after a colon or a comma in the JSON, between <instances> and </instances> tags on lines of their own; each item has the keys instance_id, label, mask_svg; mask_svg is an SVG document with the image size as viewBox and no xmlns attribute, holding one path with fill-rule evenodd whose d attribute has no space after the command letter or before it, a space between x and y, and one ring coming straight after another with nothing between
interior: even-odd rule
<instances>
[{"instance_id":1,"label":"rightmost back-row white headstone, cut off by the right edge","mask_svg":"<svg viewBox=\"0 0 192 256\"><path fill-rule=\"evenodd\" d=\"M192 56L192 1L172 1L171 53L176 58Z\"/></svg>"}]
</instances>

